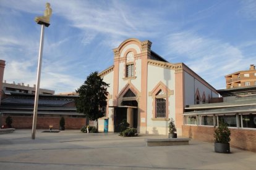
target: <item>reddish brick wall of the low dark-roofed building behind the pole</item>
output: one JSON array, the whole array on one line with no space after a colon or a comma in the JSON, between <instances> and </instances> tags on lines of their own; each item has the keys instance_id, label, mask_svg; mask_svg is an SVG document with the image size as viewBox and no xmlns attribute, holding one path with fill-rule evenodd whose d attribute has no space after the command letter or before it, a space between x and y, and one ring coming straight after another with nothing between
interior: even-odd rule
<instances>
[{"instance_id":1,"label":"reddish brick wall of the low dark-roofed building behind the pole","mask_svg":"<svg viewBox=\"0 0 256 170\"><path fill-rule=\"evenodd\" d=\"M11 116L12 127L15 129L32 129L32 116ZM2 125L5 124L7 116L1 116ZM59 120L61 117L37 117L36 129L49 129L49 125L53 125L53 129L59 129ZM65 118L66 129L80 129L86 123L86 118Z\"/></svg>"}]
</instances>

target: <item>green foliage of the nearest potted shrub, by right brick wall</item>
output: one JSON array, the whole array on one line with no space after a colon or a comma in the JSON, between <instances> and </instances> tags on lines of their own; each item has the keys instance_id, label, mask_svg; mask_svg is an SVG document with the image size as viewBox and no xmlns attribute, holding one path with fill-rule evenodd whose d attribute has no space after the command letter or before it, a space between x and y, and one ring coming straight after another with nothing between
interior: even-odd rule
<instances>
[{"instance_id":1,"label":"green foliage of the nearest potted shrub, by right brick wall","mask_svg":"<svg viewBox=\"0 0 256 170\"><path fill-rule=\"evenodd\" d=\"M215 137L215 142L228 144L230 141L231 132L228 129L228 124L220 121L219 126L214 129L213 136Z\"/></svg>"}]
</instances>

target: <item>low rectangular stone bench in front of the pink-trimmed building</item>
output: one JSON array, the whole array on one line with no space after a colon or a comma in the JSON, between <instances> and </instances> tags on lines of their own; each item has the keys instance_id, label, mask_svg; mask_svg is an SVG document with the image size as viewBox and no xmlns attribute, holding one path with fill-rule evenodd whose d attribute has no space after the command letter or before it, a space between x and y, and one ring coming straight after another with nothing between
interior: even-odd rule
<instances>
[{"instance_id":1,"label":"low rectangular stone bench in front of the pink-trimmed building","mask_svg":"<svg viewBox=\"0 0 256 170\"><path fill-rule=\"evenodd\" d=\"M147 147L189 145L189 138L145 139Z\"/></svg>"}]
</instances>

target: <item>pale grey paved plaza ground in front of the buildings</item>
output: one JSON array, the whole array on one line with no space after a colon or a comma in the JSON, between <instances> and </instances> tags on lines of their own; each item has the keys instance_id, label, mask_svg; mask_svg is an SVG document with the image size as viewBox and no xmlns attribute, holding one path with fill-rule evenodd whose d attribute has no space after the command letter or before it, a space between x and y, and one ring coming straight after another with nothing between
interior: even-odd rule
<instances>
[{"instance_id":1,"label":"pale grey paved plaza ground in front of the buildings","mask_svg":"<svg viewBox=\"0 0 256 170\"><path fill-rule=\"evenodd\" d=\"M0 169L256 169L256 153L231 148L215 153L214 145L190 140L190 145L146 147L145 139L114 133L80 131L44 133L16 130L0 135Z\"/></svg>"}]
</instances>

